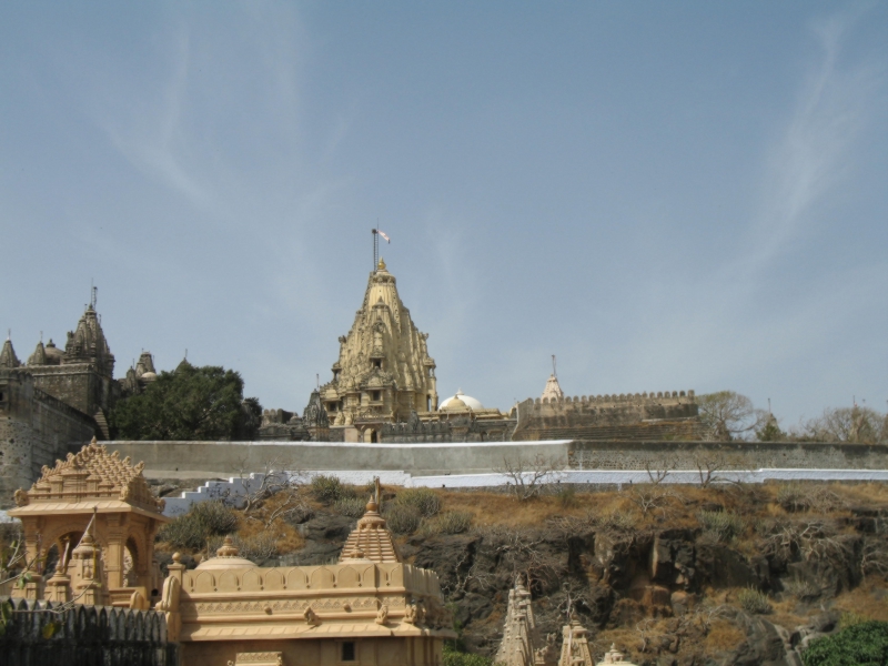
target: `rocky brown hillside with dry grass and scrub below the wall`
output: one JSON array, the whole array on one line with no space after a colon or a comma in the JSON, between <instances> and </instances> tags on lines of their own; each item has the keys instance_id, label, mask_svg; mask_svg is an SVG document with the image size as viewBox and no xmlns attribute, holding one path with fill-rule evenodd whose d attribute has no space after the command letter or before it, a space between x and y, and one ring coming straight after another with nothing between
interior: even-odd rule
<instances>
[{"instance_id":1,"label":"rocky brown hillside with dry grass and scrub below the wall","mask_svg":"<svg viewBox=\"0 0 888 666\"><path fill-rule=\"evenodd\" d=\"M193 566L234 533L260 564L322 564L365 497L321 477L246 509L198 505L160 548ZM795 663L811 637L888 620L884 485L549 486L525 501L385 488L384 501L403 557L437 572L463 647L486 656L517 575L544 633L559 635L569 605L596 658L616 643L639 665Z\"/></svg>"}]
</instances>

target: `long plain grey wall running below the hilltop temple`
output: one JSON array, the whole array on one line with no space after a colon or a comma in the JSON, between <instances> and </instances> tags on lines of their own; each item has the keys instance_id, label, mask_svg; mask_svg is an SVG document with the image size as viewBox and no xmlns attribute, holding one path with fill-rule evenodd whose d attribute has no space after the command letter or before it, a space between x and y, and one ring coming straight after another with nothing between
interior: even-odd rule
<instances>
[{"instance_id":1,"label":"long plain grey wall running below the hilltop temple","mask_svg":"<svg viewBox=\"0 0 888 666\"><path fill-rule=\"evenodd\" d=\"M634 442L563 440L440 444L347 444L339 442L108 442L145 462L151 477L228 477L268 464L301 471L379 470L411 475L487 473L506 460L543 456L584 470L696 470L717 458L724 468L886 470L888 445L798 442Z\"/></svg>"}]
</instances>

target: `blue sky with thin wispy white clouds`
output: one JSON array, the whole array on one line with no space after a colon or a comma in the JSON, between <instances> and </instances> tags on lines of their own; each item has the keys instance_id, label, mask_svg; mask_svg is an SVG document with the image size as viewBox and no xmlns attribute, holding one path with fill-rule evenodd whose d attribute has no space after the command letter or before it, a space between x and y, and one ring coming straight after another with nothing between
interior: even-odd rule
<instances>
[{"instance_id":1,"label":"blue sky with thin wispy white clouds","mask_svg":"<svg viewBox=\"0 0 888 666\"><path fill-rule=\"evenodd\" d=\"M888 3L0 3L0 327L331 379L371 229L438 393L888 406ZM865 402L864 402L865 401Z\"/></svg>"}]
</instances>

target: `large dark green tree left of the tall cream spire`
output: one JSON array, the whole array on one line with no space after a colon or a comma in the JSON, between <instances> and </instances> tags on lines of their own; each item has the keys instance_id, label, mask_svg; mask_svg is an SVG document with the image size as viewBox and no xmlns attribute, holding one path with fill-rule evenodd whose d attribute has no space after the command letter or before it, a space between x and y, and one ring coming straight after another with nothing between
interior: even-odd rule
<instances>
[{"instance_id":1,"label":"large dark green tree left of the tall cream spire","mask_svg":"<svg viewBox=\"0 0 888 666\"><path fill-rule=\"evenodd\" d=\"M240 373L183 363L121 400L109 422L112 436L124 440L252 440L261 414L259 400L243 398Z\"/></svg>"}]
</instances>

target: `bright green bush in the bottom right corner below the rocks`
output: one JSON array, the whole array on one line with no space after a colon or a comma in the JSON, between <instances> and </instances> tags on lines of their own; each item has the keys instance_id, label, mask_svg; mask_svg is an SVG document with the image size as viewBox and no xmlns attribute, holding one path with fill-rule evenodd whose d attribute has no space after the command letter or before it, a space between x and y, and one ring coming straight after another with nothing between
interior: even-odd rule
<instances>
[{"instance_id":1,"label":"bright green bush in the bottom right corner below the rocks","mask_svg":"<svg viewBox=\"0 0 888 666\"><path fill-rule=\"evenodd\" d=\"M811 640L801 653L805 666L885 666L888 664L888 622L864 622L833 636Z\"/></svg>"}]
</instances>

